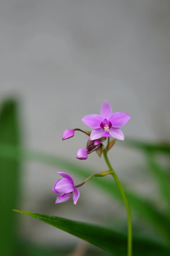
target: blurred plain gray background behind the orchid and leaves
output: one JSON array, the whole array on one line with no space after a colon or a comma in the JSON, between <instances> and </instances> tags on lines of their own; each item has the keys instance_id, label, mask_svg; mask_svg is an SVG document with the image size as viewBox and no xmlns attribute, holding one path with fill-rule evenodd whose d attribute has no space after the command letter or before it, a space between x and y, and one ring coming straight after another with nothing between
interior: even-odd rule
<instances>
[{"instance_id":1,"label":"blurred plain gray background behind the orchid and leaves","mask_svg":"<svg viewBox=\"0 0 170 256\"><path fill-rule=\"evenodd\" d=\"M24 147L106 170L95 153L86 161L75 159L86 146L85 135L76 132L62 141L65 129L88 129L81 118L99 113L105 99L114 112L131 115L122 128L125 139L169 140L168 0L1 0L0 45L0 100L20 99ZM159 202L138 152L120 142L109 157L123 183ZM72 199L55 205L57 170L35 163L24 167L23 210L107 225L109 218L126 217L124 207L90 184L80 188L77 206ZM26 216L20 231L39 243L79 241Z\"/></svg>"}]
</instances>

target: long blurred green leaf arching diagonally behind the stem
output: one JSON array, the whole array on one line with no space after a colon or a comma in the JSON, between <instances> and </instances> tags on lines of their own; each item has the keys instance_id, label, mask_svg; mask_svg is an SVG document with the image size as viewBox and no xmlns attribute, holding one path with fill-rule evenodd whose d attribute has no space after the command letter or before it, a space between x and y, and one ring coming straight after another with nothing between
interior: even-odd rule
<instances>
[{"instance_id":1,"label":"long blurred green leaf arching diagonally behind the stem","mask_svg":"<svg viewBox=\"0 0 170 256\"><path fill-rule=\"evenodd\" d=\"M49 154L40 153L36 151L25 151L20 148L12 147L10 145L1 145L0 146L0 156L13 158L13 159L22 159L29 161L41 162L44 164L49 164L51 166L55 166L61 168L68 172L75 173L84 179L89 177L91 174L96 173L95 170L89 170L87 167L82 167L78 164L75 164L69 160L62 159L62 157L51 156ZM123 199L120 194L120 191L117 185L114 183L112 179L107 180L105 178L92 178L89 180L95 186L103 191L107 192L110 196L116 198L123 205ZM147 223L157 231L160 237L164 238L168 243L170 242L170 225L166 216L163 213L159 212L153 205L152 202L146 200L140 196L135 195L134 192L131 192L128 189L124 189L125 194L130 203L131 209L139 215L142 219L146 220Z\"/></svg>"}]
</instances>

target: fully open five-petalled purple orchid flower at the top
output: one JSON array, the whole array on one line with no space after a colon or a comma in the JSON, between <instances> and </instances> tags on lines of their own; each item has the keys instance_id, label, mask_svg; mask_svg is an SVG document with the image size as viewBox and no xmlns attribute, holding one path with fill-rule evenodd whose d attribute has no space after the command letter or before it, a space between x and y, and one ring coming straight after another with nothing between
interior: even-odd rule
<instances>
[{"instance_id":1,"label":"fully open five-petalled purple orchid flower at the top","mask_svg":"<svg viewBox=\"0 0 170 256\"><path fill-rule=\"evenodd\" d=\"M90 140L97 140L100 137L114 137L124 141L124 134L120 127L125 125L130 115L125 112L112 112L110 103L105 100L101 106L100 115L85 115L81 119L83 123L93 128Z\"/></svg>"}]
</instances>

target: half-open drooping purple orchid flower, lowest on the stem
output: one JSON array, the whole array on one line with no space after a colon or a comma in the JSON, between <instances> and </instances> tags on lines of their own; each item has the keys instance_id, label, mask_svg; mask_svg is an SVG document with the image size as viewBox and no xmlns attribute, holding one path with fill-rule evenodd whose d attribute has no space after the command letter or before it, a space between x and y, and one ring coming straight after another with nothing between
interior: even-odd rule
<instances>
[{"instance_id":1,"label":"half-open drooping purple orchid flower, lowest on the stem","mask_svg":"<svg viewBox=\"0 0 170 256\"><path fill-rule=\"evenodd\" d=\"M57 182L55 182L52 188L52 191L54 191L56 194L62 193L60 196L57 196L57 200L55 201L55 204L67 201L74 192L73 202L76 205L80 194L78 189L75 188L74 186L73 179L65 172L56 172L56 173L61 175L63 179L59 179Z\"/></svg>"}]
</instances>

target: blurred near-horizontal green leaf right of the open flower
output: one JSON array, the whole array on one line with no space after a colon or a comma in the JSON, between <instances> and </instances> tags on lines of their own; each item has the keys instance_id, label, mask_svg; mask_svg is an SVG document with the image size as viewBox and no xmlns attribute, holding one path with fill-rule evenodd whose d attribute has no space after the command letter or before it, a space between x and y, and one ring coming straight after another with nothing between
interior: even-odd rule
<instances>
[{"instance_id":1,"label":"blurred near-horizontal green leaf right of the open flower","mask_svg":"<svg viewBox=\"0 0 170 256\"><path fill-rule=\"evenodd\" d=\"M142 149L145 151L147 150L152 152L163 152L163 153L170 154L170 142L154 143L154 142L144 142L144 141L138 141L136 139L126 138L125 141L123 142L123 145L137 148L137 149Z\"/></svg>"}]
</instances>

